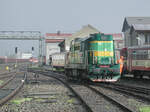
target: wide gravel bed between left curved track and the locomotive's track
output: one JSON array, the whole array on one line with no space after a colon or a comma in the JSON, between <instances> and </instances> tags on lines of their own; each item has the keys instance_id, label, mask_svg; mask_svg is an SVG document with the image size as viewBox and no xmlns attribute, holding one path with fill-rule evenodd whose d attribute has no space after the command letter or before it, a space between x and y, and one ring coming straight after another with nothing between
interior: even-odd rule
<instances>
[{"instance_id":1,"label":"wide gravel bed between left curved track and the locomotive's track","mask_svg":"<svg viewBox=\"0 0 150 112\"><path fill-rule=\"evenodd\" d=\"M84 112L80 102L59 81L28 74L28 84L0 112ZM30 81L32 80L32 81Z\"/></svg>"}]
</instances>

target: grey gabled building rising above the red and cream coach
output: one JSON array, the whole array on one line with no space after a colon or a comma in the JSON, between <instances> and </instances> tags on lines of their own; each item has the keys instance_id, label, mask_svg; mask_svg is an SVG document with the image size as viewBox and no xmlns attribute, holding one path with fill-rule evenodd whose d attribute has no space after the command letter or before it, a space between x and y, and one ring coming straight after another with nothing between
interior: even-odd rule
<instances>
[{"instance_id":1,"label":"grey gabled building rising above the red and cream coach","mask_svg":"<svg viewBox=\"0 0 150 112\"><path fill-rule=\"evenodd\" d=\"M150 17L126 17L122 32L125 47L150 45Z\"/></svg>"}]
</instances>

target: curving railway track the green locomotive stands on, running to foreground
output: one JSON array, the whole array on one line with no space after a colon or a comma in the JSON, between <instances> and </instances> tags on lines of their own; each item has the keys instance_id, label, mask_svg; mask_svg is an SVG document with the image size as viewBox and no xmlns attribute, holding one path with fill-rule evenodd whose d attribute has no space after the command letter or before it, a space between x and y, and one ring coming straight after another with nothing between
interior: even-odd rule
<instances>
[{"instance_id":1,"label":"curving railway track the green locomotive stands on, running to foreground","mask_svg":"<svg viewBox=\"0 0 150 112\"><path fill-rule=\"evenodd\" d=\"M39 72L40 71L38 71L38 73ZM99 108L100 107L99 105L100 105L100 102L101 102L100 99L102 99L103 97L105 99L105 102L108 103L108 105L110 105L110 101L111 101L111 105L115 104L115 107L117 107L119 109L118 111L135 112L134 110L128 108L127 106L125 106L124 104L120 103L119 101L113 99L112 97L109 97L109 96L105 95L104 93L102 93L102 92L92 88L91 86L80 85L80 84L79 85L78 84L74 85L74 84L71 84L71 83L68 84L65 81L66 77L64 75L59 74L59 73L53 73L53 74L56 74L55 76L54 75L48 75L49 72L40 72L40 73L44 74L44 75L46 75L48 77L53 77L53 78L61 81L65 86L67 86L75 94L76 97L78 97L78 99L80 100L80 102L82 102L84 108L88 112L100 111L100 109L101 109L101 108ZM82 93L82 90L83 90L83 93ZM81 92L79 92L79 91L81 91ZM90 93L90 92L92 92L92 95L91 96L87 96L87 95L89 95L88 93ZM85 96L87 96L87 97L85 97ZM94 97L94 96L95 96L95 98L98 98L98 99L97 100L95 99L95 101L93 101L93 102L88 101L89 97ZM95 103L95 102L98 102L98 103ZM112 106L112 107L114 107L114 106Z\"/></svg>"}]
</instances>

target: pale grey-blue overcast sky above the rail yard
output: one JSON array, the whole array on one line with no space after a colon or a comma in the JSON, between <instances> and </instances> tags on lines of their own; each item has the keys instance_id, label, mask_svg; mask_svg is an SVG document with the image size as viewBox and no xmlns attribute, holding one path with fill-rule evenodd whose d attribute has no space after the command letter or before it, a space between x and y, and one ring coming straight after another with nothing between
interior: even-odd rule
<instances>
[{"instance_id":1,"label":"pale grey-blue overcast sky above the rail yard","mask_svg":"<svg viewBox=\"0 0 150 112\"><path fill-rule=\"evenodd\" d=\"M0 0L0 30L72 33L91 24L104 33L120 33L124 17L150 16L149 11L150 0ZM0 55L11 53L14 46L24 52L32 46L27 41L10 41L13 47L5 43L0 40Z\"/></svg>"}]
</instances>

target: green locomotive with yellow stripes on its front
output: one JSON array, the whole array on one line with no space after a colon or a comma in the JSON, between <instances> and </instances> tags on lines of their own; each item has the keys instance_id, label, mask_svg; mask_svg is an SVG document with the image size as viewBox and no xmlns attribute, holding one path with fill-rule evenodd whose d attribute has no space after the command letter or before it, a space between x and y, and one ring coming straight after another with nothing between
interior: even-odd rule
<instances>
[{"instance_id":1,"label":"green locomotive with yellow stripes on its front","mask_svg":"<svg viewBox=\"0 0 150 112\"><path fill-rule=\"evenodd\" d=\"M117 81L121 74L112 35L96 33L73 40L66 54L65 74L69 79Z\"/></svg>"}]
</instances>

